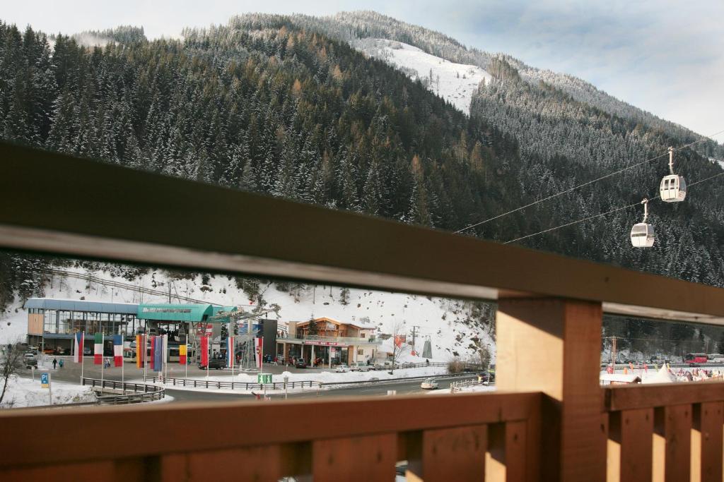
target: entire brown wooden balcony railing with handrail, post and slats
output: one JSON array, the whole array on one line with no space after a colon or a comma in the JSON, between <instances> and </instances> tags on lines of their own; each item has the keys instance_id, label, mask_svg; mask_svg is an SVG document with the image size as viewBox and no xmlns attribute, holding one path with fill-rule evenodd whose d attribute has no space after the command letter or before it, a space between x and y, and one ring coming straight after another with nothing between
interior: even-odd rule
<instances>
[{"instance_id":1,"label":"entire brown wooden balcony railing with handrail, post and slats","mask_svg":"<svg viewBox=\"0 0 724 482\"><path fill-rule=\"evenodd\" d=\"M722 480L724 384L599 387L604 313L723 324L720 288L7 144L0 159L1 249L498 306L496 393L6 410L0 480L390 481L398 460L424 481Z\"/></svg>"}]
</instances>

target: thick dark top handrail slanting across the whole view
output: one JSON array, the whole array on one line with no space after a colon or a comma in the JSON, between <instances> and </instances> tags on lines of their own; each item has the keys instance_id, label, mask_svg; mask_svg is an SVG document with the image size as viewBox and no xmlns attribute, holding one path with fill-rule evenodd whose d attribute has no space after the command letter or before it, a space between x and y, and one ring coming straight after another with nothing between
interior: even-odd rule
<instances>
[{"instance_id":1,"label":"thick dark top handrail slanting across the whole view","mask_svg":"<svg viewBox=\"0 0 724 482\"><path fill-rule=\"evenodd\" d=\"M0 158L7 249L724 324L721 288L7 143ZM195 202L179 210L180 196Z\"/></svg>"}]
</instances>

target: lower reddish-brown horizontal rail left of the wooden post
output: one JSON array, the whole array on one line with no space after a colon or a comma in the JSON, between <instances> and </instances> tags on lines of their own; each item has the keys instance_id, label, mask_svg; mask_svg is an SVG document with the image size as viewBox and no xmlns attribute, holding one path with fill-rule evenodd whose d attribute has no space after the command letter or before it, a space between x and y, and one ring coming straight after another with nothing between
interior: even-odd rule
<instances>
[{"instance_id":1,"label":"lower reddish-brown horizontal rail left of the wooden post","mask_svg":"<svg viewBox=\"0 0 724 482\"><path fill-rule=\"evenodd\" d=\"M43 455L44 462L106 460L523 421L535 416L540 404L538 393L497 393L374 398L364 403L338 399L80 408L62 413L3 410L0 426L6 433L43 437L0 437L0 468L38 462L48 440L74 442L58 444ZM195 422L193 431L188 431L190 421ZM108 436L99 444L87 436L88 427L99 434L152 427L154 443L129 444L125 437Z\"/></svg>"}]
</instances>

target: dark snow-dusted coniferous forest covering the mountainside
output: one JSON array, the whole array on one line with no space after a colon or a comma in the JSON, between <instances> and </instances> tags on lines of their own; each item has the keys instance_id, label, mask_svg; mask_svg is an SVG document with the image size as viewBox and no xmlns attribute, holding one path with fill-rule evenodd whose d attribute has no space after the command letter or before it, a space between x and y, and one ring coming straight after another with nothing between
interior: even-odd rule
<instances>
[{"instance_id":1,"label":"dark snow-dusted coniferous forest covering the mountainside","mask_svg":"<svg viewBox=\"0 0 724 482\"><path fill-rule=\"evenodd\" d=\"M328 22L249 16L183 40L147 40L136 27L87 34L107 41L0 23L2 139L447 231L697 139L531 80L505 56L484 57L494 79L468 116ZM676 154L687 181L720 172L702 149ZM509 241L596 215L652 197L666 173L662 158L467 233ZM724 286L721 178L651 211L649 250L628 241L640 209L521 244ZM52 262L0 254L0 306L40 293L36 273ZM627 326L617 330L631 338L665 330Z\"/></svg>"}]
</instances>

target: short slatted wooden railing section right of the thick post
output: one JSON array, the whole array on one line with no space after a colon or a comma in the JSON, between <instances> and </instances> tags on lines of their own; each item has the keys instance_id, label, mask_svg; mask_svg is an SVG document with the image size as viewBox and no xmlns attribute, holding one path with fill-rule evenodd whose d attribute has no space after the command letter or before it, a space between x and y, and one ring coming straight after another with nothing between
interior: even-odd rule
<instances>
[{"instance_id":1,"label":"short slatted wooden railing section right of the thick post","mask_svg":"<svg viewBox=\"0 0 724 482\"><path fill-rule=\"evenodd\" d=\"M609 480L724 479L724 383L611 387L605 410Z\"/></svg>"}]
</instances>

